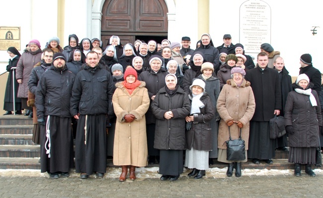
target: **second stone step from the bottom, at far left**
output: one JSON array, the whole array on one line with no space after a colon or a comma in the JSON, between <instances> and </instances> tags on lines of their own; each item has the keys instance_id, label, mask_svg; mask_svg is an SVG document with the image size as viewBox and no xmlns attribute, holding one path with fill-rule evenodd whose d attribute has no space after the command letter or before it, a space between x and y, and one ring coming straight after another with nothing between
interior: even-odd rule
<instances>
[{"instance_id":1,"label":"second stone step from the bottom, at far left","mask_svg":"<svg viewBox=\"0 0 323 198\"><path fill-rule=\"evenodd\" d=\"M0 157L40 157L40 146L0 145Z\"/></svg>"}]
</instances>

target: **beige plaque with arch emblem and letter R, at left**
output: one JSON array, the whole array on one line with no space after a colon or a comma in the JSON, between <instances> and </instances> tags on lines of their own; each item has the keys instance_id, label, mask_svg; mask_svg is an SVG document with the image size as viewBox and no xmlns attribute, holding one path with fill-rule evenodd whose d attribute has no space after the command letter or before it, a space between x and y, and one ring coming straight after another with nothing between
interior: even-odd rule
<instances>
[{"instance_id":1,"label":"beige plaque with arch emblem and letter R, at left","mask_svg":"<svg viewBox=\"0 0 323 198\"><path fill-rule=\"evenodd\" d=\"M20 50L20 27L0 27L0 50L9 47Z\"/></svg>"}]
</instances>

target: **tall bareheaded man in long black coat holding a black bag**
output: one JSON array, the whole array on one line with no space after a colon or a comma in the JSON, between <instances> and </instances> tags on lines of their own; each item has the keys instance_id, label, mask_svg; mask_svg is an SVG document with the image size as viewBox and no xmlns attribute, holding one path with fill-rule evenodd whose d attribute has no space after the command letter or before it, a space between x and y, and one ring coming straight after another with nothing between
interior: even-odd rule
<instances>
[{"instance_id":1,"label":"tall bareheaded man in long black coat holding a black bag","mask_svg":"<svg viewBox=\"0 0 323 198\"><path fill-rule=\"evenodd\" d=\"M269 120L274 114L279 115L281 90L278 72L269 68L268 55L257 55L258 67L246 72L245 80L250 82L256 108L250 121L248 158L259 164L260 159L272 164L275 156L275 141L269 138ZM237 96L239 97L239 96Z\"/></svg>"}]
</instances>

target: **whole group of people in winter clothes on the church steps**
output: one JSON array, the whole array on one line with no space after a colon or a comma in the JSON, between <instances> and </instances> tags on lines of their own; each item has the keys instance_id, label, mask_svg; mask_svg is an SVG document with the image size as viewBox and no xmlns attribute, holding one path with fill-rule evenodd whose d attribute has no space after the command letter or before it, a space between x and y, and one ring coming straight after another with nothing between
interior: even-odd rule
<instances>
[{"instance_id":1,"label":"whole group of people in winter clothes on the church steps","mask_svg":"<svg viewBox=\"0 0 323 198\"><path fill-rule=\"evenodd\" d=\"M7 70L17 66L21 99L16 110L35 112L33 141L41 145L41 172L68 177L75 139L75 168L82 179L93 172L103 177L107 156L121 166L121 182L128 168L135 180L136 167L148 163L159 163L161 180L177 180L184 167L192 169L189 177L201 179L214 159L228 163L228 177L234 169L240 177L242 162L272 164L275 148L286 150L287 144L295 175L306 164L306 173L315 176L311 165L323 146L323 96L311 55L301 56L300 75L292 84L280 52L270 44L261 45L254 65L242 44L231 43L231 35L223 41L215 48L203 34L195 50L189 37L182 38L182 46L163 40L158 50L155 41L122 46L112 36L103 48L99 39L79 44L73 34L64 49L57 37L44 50L30 41L20 58L9 48ZM289 143L287 135L270 139L274 115L285 117ZM227 160L229 133L245 141L244 160Z\"/></svg>"}]
</instances>

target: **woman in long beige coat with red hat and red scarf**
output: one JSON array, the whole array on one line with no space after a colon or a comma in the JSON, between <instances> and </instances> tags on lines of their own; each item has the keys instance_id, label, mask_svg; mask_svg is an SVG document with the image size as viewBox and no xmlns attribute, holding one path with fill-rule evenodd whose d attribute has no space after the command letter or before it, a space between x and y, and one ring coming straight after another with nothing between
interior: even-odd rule
<instances>
[{"instance_id":1,"label":"woman in long beige coat with red hat and red scarf","mask_svg":"<svg viewBox=\"0 0 323 198\"><path fill-rule=\"evenodd\" d=\"M112 97L117 122L114 135L113 164L121 166L119 181L124 182L130 165L130 179L135 180L136 166L146 166L148 159L146 118L149 107L146 83L137 80L137 72L127 68L125 81L116 84Z\"/></svg>"}]
</instances>

